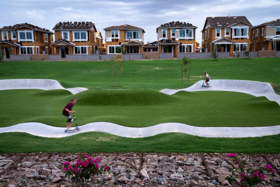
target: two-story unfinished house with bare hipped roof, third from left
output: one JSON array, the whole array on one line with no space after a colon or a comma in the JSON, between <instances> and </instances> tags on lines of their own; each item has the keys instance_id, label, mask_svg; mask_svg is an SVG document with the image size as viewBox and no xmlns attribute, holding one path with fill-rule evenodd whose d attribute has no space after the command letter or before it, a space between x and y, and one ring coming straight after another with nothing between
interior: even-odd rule
<instances>
[{"instance_id":1,"label":"two-story unfinished house with bare hipped roof, third from left","mask_svg":"<svg viewBox=\"0 0 280 187\"><path fill-rule=\"evenodd\" d=\"M127 54L143 54L144 29L123 24L106 27L104 30L106 54L117 54L116 47L119 46L123 46Z\"/></svg>"}]
</instances>

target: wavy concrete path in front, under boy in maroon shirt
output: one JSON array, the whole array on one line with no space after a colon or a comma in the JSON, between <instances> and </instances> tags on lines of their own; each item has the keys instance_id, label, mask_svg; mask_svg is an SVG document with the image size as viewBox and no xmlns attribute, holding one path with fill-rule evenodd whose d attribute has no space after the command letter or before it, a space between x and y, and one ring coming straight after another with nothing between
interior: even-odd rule
<instances>
[{"instance_id":1,"label":"wavy concrete path in front, under boy in maroon shirt","mask_svg":"<svg viewBox=\"0 0 280 187\"><path fill-rule=\"evenodd\" d=\"M133 128L109 122L95 122L79 126L80 130L65 133L65 128L29 122L0 128L0 133L23 132L41 137L67 137L85 132L104 132L122 137L148 137L161 133L186 133L202 137L259 137L280 133L280 125L268 127L196 127L181 123L163 123Z\"/></svg>"}]
</instances>

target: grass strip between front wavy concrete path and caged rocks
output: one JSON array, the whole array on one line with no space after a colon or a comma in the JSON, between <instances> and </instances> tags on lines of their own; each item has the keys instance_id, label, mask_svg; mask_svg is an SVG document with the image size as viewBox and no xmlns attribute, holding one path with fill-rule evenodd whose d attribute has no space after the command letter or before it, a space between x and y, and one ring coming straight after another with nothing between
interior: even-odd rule
<instances>
[{"instance_id":1,"label":"grass strip between front wavy concrete path and caged rocks","mask_svg":"<svg viewBox=\"0 0 280 187\"><path fill-rule=\"evenodd\" d=\"M43 138L27 133L2 133L0 153L40 151L280 153L279 141L280 135L251 138L205 138L183 133L164 133L145 138L125 138L90 132L64 138Z\"/></svg>"}]
</instances>

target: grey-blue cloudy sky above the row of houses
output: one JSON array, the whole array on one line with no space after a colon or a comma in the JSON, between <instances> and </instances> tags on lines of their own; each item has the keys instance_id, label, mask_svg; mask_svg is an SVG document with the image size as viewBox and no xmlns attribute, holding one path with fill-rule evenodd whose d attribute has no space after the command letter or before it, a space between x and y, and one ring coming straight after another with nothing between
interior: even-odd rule
<instances>
[{"instance_id":1,"label":"grey-blue cloudy sky above the row of houses","mask_svg":"<svg viewBox=\"0 0 280 187\"><path fill-rule=\"evenodd\" d=\"M57 22L91 21L103 28L130 24L145 30L144 42L157 39L156 28L171 21L197 26L196 40L206 17L244 15L252 25L280 19L280 0L1 0L0 27L27 22L53 29Z\"/></svg>"}]
</instances>

